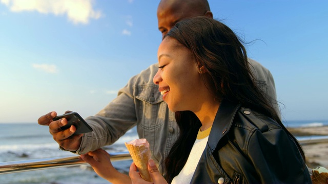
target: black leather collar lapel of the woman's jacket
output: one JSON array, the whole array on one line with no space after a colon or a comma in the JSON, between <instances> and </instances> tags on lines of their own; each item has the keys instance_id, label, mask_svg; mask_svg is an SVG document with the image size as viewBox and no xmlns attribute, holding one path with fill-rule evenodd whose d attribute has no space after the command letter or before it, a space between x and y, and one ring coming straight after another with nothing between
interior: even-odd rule
<instances>
[{"instance_id":1,"label":"black leather collar lapel of the woman's jacket","mask_svg":"<svg viewBox=\"0 0 328 184\"><path fill-rule=\"evenodd\" d=\"M208 145L213 152L217 146L217 143L221 140L223 135L229 132L233 123L234 117L240 108L240 104L234 104L229 101L222 101L212 125L212 129L209 135Z\"/></svg>"}]
</instances>

